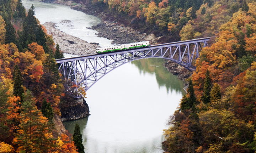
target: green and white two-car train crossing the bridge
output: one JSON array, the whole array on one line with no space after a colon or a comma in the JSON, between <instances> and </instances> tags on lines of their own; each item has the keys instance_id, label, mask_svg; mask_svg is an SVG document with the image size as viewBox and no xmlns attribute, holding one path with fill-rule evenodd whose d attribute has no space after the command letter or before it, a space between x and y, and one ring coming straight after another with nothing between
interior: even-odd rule
<instances>
[{"instance_id":1,"label":"green and white two-car train crossing the bridge","mask_svg":"<svg viewBox=\"0 0 256 153\"><path fill-rule=\"evenodd\" d=\"M127 49L148 47L148 46L149 46L149 41L133 42L130 44L114 45L114 46L97 48L97 53L122 51L122 50L127 50Z\"/></svg>"}]
</instances>

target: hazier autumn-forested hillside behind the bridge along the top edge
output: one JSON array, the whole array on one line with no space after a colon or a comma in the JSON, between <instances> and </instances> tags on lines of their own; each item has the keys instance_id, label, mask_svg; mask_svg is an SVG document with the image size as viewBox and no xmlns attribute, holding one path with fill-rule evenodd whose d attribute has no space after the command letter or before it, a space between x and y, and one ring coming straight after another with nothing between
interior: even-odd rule
<instances>
[{"instance_id":1,"label":"hazier autumn-forested hillside behind the bridge along the top edge","mask_svg":"<svg viewBox=\"0 0 256 153\"><path fill-rule=\"evenodd\" d=\"M42 0L53 2L55 0ZM68 1L68 0L64 0ZM245 0L72 0L71 8L120 22L171 42L215 36ZM247 0L247 3L254 0ZM55 1L59 3L59 1Z\"/></svg>"}]
</instances>

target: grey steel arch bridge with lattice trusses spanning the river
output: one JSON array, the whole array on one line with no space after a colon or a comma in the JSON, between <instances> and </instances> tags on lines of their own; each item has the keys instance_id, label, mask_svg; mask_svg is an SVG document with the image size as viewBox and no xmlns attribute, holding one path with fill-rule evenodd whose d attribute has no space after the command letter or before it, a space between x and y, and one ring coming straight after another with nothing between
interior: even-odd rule
<instances>
[{"instance_id":1,"label":"grey steel arch bridge with lattice trusses spanning the river","mask_svg":"<svg viewBox=\"0 0 256 153\"><path fill-rule=\"evenodd\" d=\"M86 55L56 60L59 71L66 82L83 85L85 91L90 89L101 77L122 64L142 58L165 58L171 60L190 71L196 69L196 59L202 46L208 46L211 37L166 44L151 45L145 48L107 52L103 54ZM78 87L76 86L76 91ZM78 95L73 95L78 98Z\"/></svg>"}]
</instances>

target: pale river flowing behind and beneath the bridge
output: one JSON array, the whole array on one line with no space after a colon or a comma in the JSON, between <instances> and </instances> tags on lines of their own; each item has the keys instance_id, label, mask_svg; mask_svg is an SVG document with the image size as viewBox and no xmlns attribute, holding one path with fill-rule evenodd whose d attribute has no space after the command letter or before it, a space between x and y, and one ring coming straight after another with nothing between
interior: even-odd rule
<instances>
[{"instance_id":1,"label":"pale river flowing behind and beneath the bridge","mask_svg":"<svg viewBox=\"0 0 256 153\"><path fill-rule=\"evenodd\" d=\"M71 10L68 6L23 0L35 7L41 24L52 21L57 28L88 42L108 46L111 40L98 38L86 29L100 19ZM59 23L70 20L73 26ZM70 57L73 55L66 55ZM90 116L63 124L73 134L80 125L86 153L162 153L163 129L169 116L177 110L183 83L163 67L160 58L129 62L108 73L86 93Z\"/></svg>"}]
</instances>

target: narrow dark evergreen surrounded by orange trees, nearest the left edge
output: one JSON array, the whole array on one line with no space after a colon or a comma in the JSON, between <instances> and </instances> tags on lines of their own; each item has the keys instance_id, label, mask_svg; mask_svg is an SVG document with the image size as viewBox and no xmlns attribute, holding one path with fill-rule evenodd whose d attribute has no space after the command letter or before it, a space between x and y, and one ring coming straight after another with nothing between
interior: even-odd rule
<instances>
[{"instance_id":1,"label":"narrow dark evergreen surrounded by orange trees, nearest the left edge","mask_svg":"<svg viewBox=\"0 0 256 153\"><path fill-rule=\"evenodd\" d=\"M23 95L24 89L22 86L22 76L20 69L18 68L17 64L14 66L14 74L13 74L13 80L14 80L14 95L20 97L20 101L23 101Z\"/></svg>"}]
</instances>

